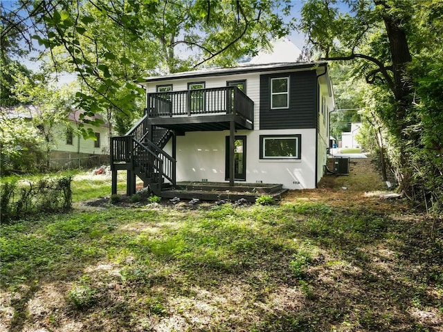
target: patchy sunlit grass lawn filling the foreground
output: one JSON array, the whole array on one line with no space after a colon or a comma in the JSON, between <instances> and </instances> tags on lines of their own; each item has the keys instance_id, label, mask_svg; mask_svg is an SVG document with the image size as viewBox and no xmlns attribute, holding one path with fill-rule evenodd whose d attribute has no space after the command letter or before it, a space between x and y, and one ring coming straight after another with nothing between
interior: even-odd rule
<instances>
[{"instance_id":1,"label":"patchy sunlit grass lawn filling the foreground","mask_svg":"<svg viewBox=\"0 0 443 332\"><path fill-rule=\"evenodd\" d=\"M0 331L442 331L441 219L348 186L1 225Z\"/></svg>"}]
</instances>

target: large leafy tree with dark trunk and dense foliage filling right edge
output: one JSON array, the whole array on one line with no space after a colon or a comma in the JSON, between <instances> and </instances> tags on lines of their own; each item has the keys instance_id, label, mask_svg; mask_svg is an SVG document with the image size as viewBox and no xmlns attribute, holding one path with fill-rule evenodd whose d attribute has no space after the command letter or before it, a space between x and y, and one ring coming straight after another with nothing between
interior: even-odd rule
<instances>
[{"instance_id":1,"label":"large leafy tree with dark trunk and dense foliage filling right edge","mask_svg":"<svg viewBox=\"0 0 443 332\"><path fill-rule=\"evenodd\" d=\"M374 86L363 107L378 149L399 189L435 208L443 206L442 14L441 0L313 0L299 25L319 57L349 63Z\"/></svg>"}]
</instances>

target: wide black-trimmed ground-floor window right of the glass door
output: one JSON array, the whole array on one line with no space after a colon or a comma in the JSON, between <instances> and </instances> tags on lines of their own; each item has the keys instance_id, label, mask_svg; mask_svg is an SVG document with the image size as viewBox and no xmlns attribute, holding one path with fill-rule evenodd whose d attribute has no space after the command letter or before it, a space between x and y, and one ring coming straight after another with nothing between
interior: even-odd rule
<instances>
[{"instance_id":1,"label":"wide black-trimmed ground-floor window right of the glass door","mask_svg":"<svg viewBox=\"0 0 443 332\"><path fill-rule=\"evenodd\" d=\"M260 159L300 159L301 135L260 135Z\"/></svg>"}]
</instances>

